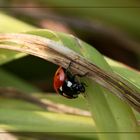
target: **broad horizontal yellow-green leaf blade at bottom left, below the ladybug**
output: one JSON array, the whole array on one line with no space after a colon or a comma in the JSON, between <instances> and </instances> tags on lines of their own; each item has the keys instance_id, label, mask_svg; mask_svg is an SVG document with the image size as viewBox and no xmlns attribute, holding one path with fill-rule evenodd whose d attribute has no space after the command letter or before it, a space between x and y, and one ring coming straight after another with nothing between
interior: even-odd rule
<instances>
[{"instance_id":1,"label":"broad horizontal yellow-green leaf blade at bottom left, below the ladybug","mask_svg":"<svg viewBox=\"0 0 140 140\"><path fill-rule=\"evenodd\" d=\"M0 109L0 116L0 128L11 132L53 132L54 135L65 135L66 132L75 135L76 132L91 138L86 132L95 131L94 122L89 117L15 109Z\"/></svg>"}]
</instances>

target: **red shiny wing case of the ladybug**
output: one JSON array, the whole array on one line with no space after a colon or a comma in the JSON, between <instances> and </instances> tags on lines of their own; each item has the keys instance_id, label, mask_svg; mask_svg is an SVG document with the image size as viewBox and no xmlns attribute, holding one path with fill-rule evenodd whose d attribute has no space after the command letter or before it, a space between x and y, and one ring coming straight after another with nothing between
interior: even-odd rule
<instances>
[{"instance_id":1,"label":"red shiny wing case of the ladybug","mask_svg":"<svg viewBox=\"0 0 140 140\"><path fill-rule=\"evenodd\" d=\"M57 93L59 93L58 90L63 85L65 78L66 76L63 68L59 67L54 75L54 82L53 82L54 89Z\"/></svg>"}]
</instances>

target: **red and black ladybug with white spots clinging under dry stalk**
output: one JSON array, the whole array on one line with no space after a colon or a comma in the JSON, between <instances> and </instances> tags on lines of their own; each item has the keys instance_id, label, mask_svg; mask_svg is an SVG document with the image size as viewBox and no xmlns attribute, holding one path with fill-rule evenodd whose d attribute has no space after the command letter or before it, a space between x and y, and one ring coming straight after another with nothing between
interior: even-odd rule
<instances>
[{"instance_id":1,"label":"red and black ladybug with white spots clinging under dry stalk","mask_svg":"<svg viewBox=\"0 0 140 140\"><path fill-rule=\"evenodd\" d=\"M80 93L85 92L85 83L81 83L78 81L76 76L80 76L78 74L73 75L69 70L62 68L61 66L57 69L54 75L54 89L60 95L73 99L77 98Z\"/></svg>"}]
</instances>

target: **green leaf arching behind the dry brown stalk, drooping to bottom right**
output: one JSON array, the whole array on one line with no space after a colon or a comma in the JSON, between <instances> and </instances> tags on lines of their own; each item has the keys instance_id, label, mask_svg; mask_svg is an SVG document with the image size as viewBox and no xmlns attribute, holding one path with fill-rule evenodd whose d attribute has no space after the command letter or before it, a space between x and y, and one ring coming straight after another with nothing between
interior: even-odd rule
<instances>
[{"instance_id":1,"label":"green leaf arching behind the dry brown stalk, drooping to bottom right","mask_svg":"<svg viewBox=\"0 0 140 140\"><path fill-rule=\"evenodd\" d=\"M74 36L57 32L52 33L52 31L49 30L35 30L28 33L44 36L50 40L55 38L55 40L53 40L55 43L63 44L73 49L103 70L113 72L99 52ZM55 34L56 37L53 39L49 38L50 34ZM87 78L83 78L83 81L88 85L86 88L86 97L93 119L95 120L96 130L98 132L114 132L109 135L99 133L100 138L106 140L139 139L138 133L132 134L131 136L121 135L122 133L139 131L136 118L131 108L94 81Z\"/></svg>"}]
</instances>

